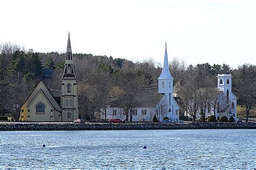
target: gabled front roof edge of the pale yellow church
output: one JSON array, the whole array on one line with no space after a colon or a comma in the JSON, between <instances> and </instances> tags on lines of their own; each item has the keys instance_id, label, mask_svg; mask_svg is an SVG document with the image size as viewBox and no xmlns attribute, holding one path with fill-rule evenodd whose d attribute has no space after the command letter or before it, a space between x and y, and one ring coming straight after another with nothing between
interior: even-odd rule
<instances>
[{"instance_id":1,"label":"gabled front roof edge of the pale yellow church","mask_svg":"<svg viewBox=\"0 0 256 170\"><path fill-rule=\"evenodd\" d=\"M30 93L29 97L25 100L23 105L29 106L30 103L33 101L33 99L37 96L37 94L42 91L44 96L49 100L49 102L52 104L52 106L55 108L55 110L62 112L62 108L57 103L55 98L52 96L50 90L48 87L44 84L44 82L41 80L37 84L36 88ZM23 107L22 105L22 107Z\"/></svg>"}]
</instances>

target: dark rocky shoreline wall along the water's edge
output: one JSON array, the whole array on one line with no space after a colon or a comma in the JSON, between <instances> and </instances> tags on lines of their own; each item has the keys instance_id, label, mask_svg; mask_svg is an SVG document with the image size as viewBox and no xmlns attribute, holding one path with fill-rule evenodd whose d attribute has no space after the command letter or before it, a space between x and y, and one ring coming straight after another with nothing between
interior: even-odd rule
<instances>
[{"instance_id":1,"label":"dark rocky shoreline wall along the water's edge","mask_svg":"<svg viewBox=\"0 0 256 170\"><path fill-rule=\"evenodd\" d=\"M256 129L256 123L188 123L188 124L72 124L72 123L0 123L0 131L98 131L98 130L199 130Z\"/></svg>"}]
</instances>

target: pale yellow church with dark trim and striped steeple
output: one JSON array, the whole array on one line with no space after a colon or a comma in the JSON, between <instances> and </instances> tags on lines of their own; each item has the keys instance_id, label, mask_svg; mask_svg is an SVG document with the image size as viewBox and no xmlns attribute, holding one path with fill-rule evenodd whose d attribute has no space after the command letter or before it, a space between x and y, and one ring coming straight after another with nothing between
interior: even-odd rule
<instances>
[{"instance_id":1,"label":"pale yellow church with dark trim and striped steeple","mask_svg":"<svg viewBox=\"0 0 256 170\"><path fill-rule=\"evenodd\" d=\"M66 49L61 96L54 97L41 80L21 107L20 121L73 121L78 119L77 80L70 35Z\"/></svg>"}]
</instances>

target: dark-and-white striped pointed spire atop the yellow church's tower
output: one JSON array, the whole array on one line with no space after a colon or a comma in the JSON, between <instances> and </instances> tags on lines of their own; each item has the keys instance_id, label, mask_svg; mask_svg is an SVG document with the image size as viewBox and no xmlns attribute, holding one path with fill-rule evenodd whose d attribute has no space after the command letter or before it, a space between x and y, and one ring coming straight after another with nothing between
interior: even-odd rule
<instances>
[{"instance_id":1,"label":"dark-and-white striped pointed spire atop the yellow church's tower","mask_svg":"<svg viewBox=\"0 0 256 170\"><path fill-rule=\"evenodd\" d=\"M64 72L63 72L62 78L63 79L76 78L75 66L74 66L72 51L71 51L70 35L68 38L68 45L66 47L65 66L64 66Z\"/></svg>"}]
</instances>

